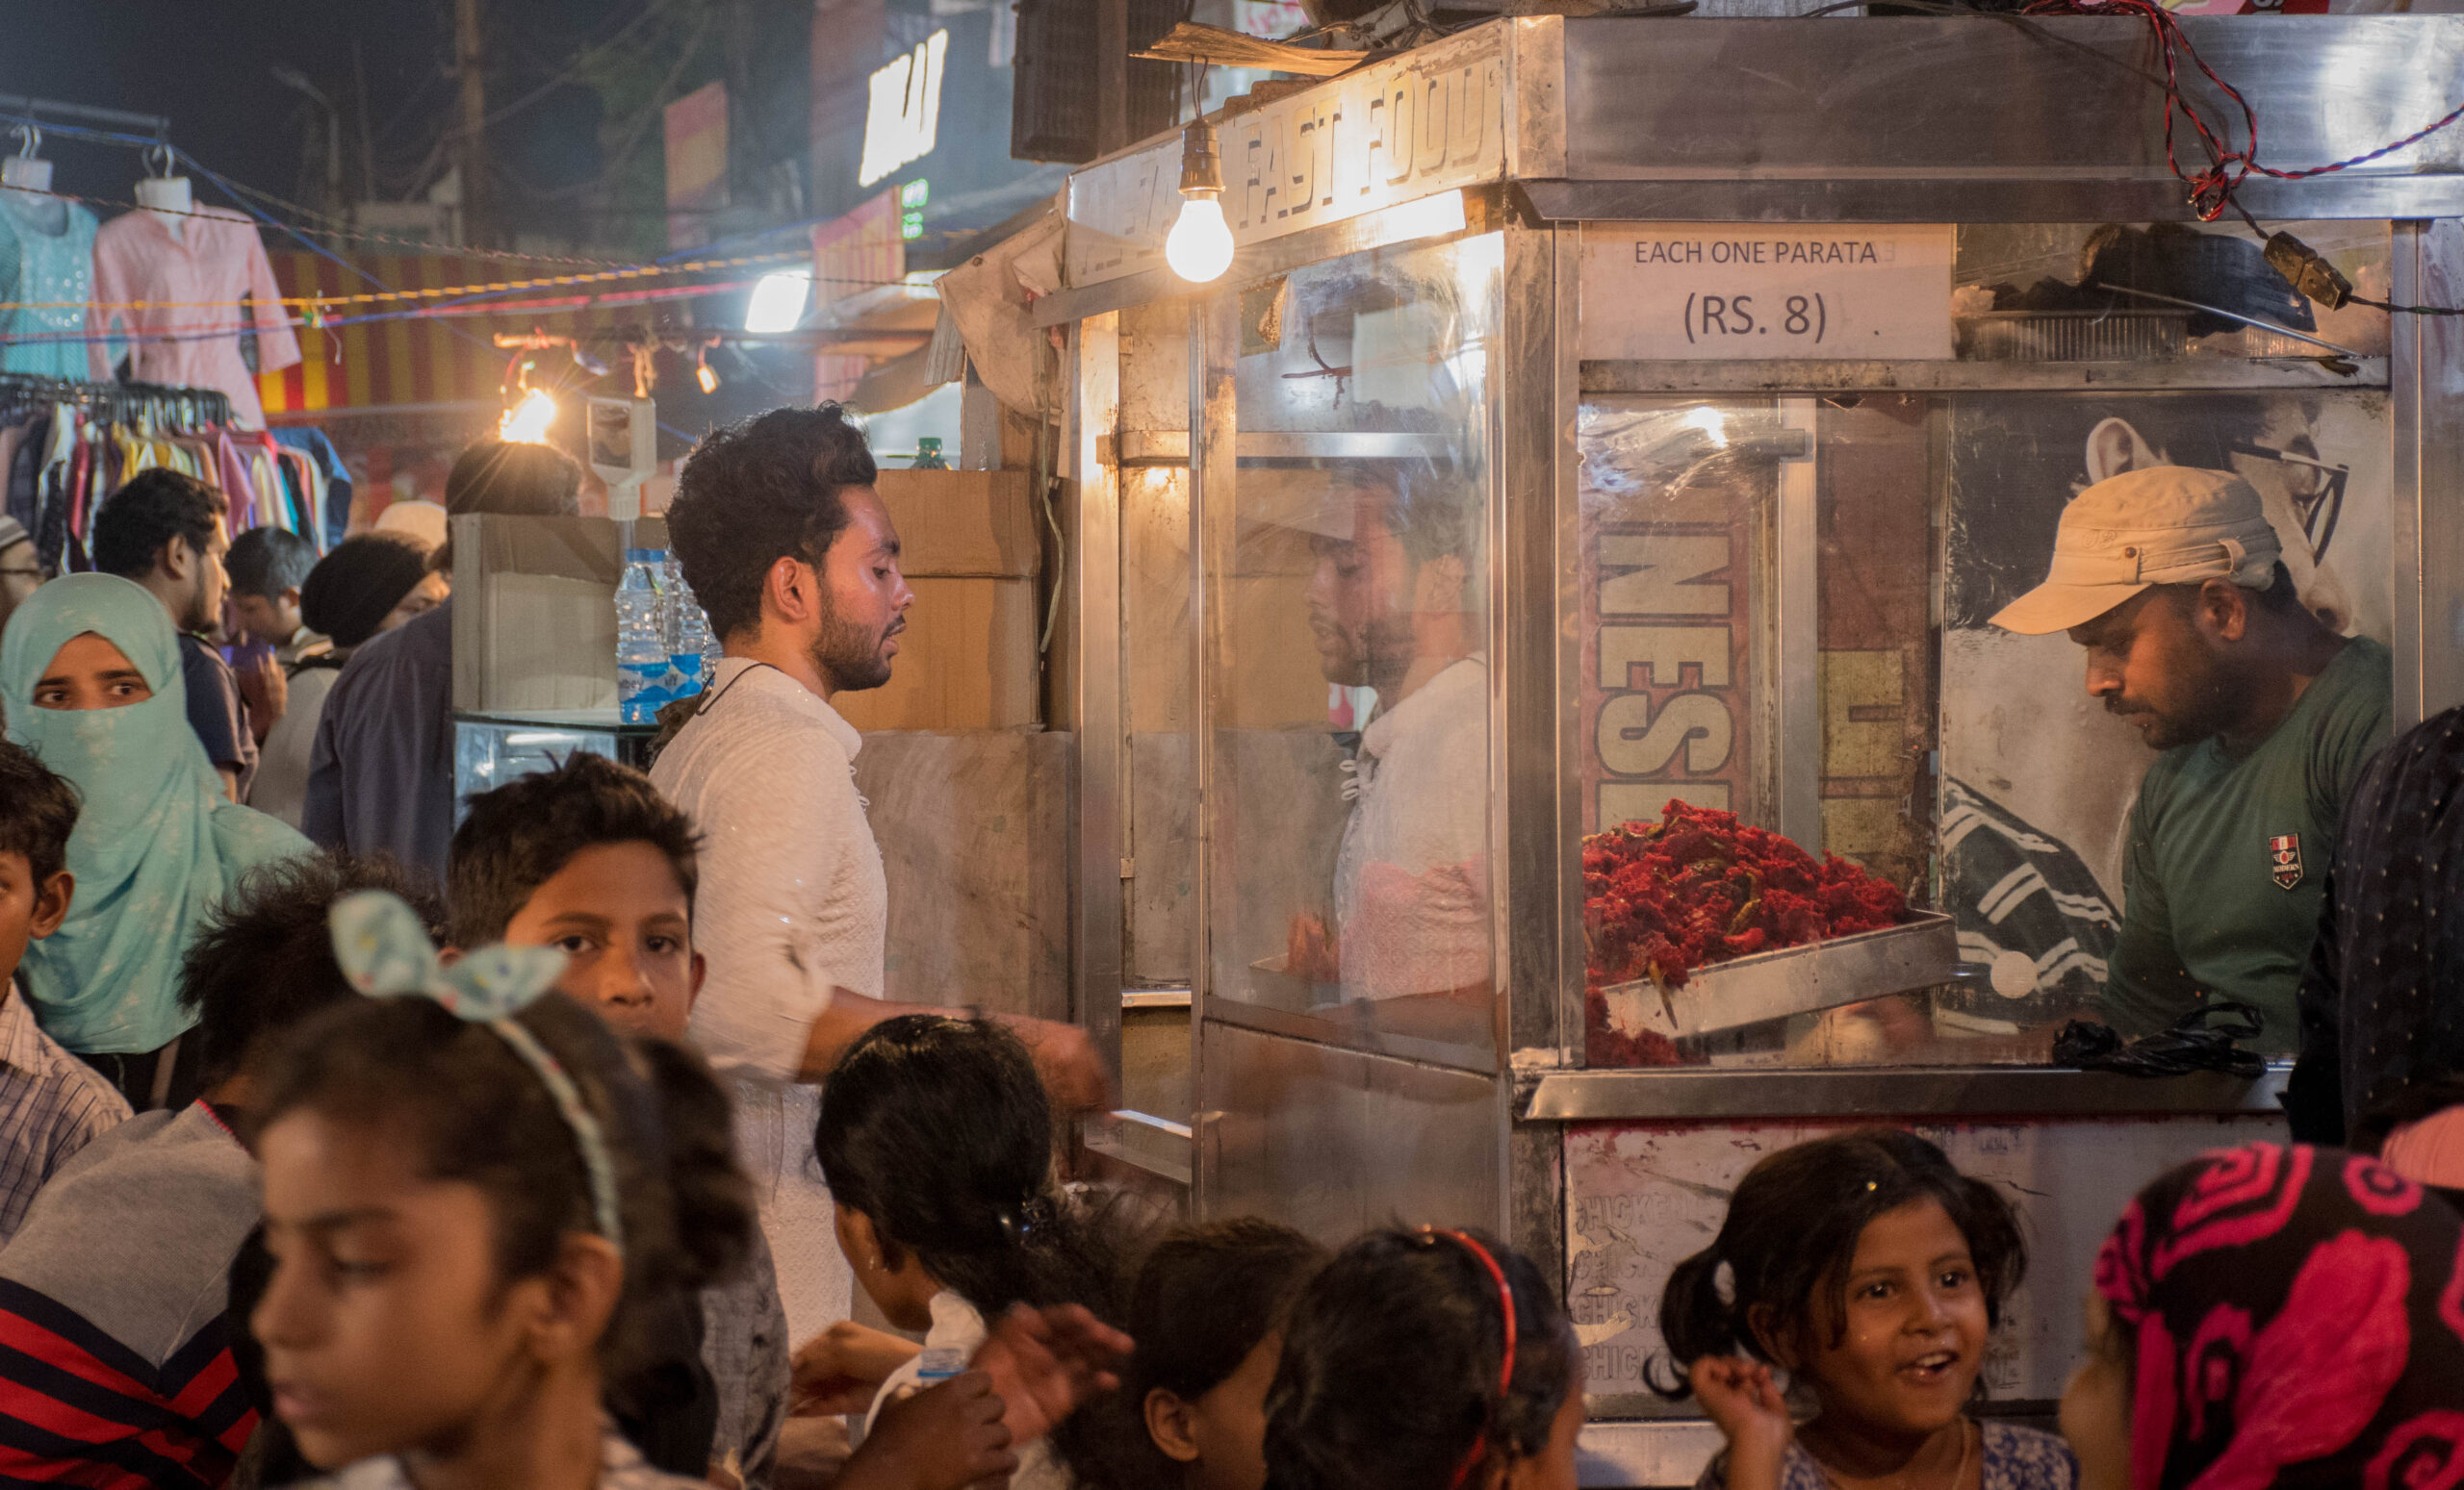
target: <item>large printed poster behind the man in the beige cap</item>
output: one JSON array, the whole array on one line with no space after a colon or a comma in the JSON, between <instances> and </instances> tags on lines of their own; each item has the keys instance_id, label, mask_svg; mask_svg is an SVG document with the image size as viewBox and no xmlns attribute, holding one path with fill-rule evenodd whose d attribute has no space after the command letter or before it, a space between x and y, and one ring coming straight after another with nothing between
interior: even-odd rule
<instances>
[{"instance_id":1,"label":"large printed poster behind the man in the beige cap","mask_svg":"<svg viewBox=\"0 0 2464 1490\"><path fill-rule=\"evenodd\" d=\"M2104 985L2129 810L2154 751L2087 697L2062 633L1991 616L2045 576L2062 507L2146 465L2232 470L2301 601L2390 640L2388 399L2378 389L1971 394L1949 411L1942 618L1942 906L1993 993L1937 995L1979 1032L2067 1017Z\"/></svg>"}]
</instances>

